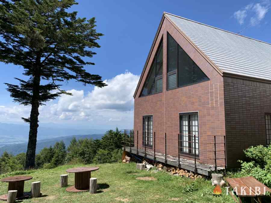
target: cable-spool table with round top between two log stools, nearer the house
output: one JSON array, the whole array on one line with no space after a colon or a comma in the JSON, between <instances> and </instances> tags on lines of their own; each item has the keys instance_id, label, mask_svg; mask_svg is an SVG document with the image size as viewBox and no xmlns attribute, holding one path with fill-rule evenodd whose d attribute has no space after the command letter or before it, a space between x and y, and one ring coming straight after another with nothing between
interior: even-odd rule
<instances>
[{"instance_id":1,"label":"cable-spool table with round top between two log stools, nearer the house","mask_svg":"<svg viewBox=\"0 0 271 203\"><path fill-rule=\"evenodd\" d=\"M74 185L66 189L68 192L84 192L89 191L89 179L91 178L91 171L97 171L99 167L79 167L70 168L66 172L74 173Z\"/></svg>"}]
</instances>

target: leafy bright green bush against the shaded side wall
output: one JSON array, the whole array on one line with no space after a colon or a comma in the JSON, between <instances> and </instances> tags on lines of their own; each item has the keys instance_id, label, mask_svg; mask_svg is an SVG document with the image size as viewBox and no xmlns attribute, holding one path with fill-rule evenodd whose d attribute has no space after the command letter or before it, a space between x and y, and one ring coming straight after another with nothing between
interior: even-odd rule
<instances>
[{"instance_id":1,"label":"leafy bright green bush against the shaded side wall","mask_svg":"<svg viewBox=\"0 0 271 203\"><path fill-rule=\"evenodd\" d=\"M244 150L247 161L240 161L241 175L253 176L263 184L271 187L271 146L251 146Z\"/></svg>"}]
</instances>

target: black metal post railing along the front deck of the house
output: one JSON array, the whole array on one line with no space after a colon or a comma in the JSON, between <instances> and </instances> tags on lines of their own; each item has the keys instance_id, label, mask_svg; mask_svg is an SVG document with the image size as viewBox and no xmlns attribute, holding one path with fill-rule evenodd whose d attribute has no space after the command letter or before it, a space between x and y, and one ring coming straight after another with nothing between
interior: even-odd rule
<instances>
[{"instance_id":1,"label":"black metal post railing along the front deck of the house","mask_svg":"<svg viewBox=\"0 0 271 203\"><path fill-rule=\"evenodd\" d=\"M136 135L135 135L136 134ZM124 130L124 141L123 141L123 148L128 148L130 152L132 152L132 148L136 148L136 154L138 155L139 152L143 153L145 158L147 155L153 157L154 161L156 161L157 156L157 147L156 145L159 144L159 154L164 154L164 163L167 164L168 158L170 156L176 157L178 153L178 166L181 168L181 157L189 157L194 160L194 170L197 172L197 159L199 159L200 154L204 153L207 154L209 157L209 153L211 158L207 158L207 160L212 160L214 162L214 171L217 171L218 167L223 167L226 171L226 137L225 135L207 135L204 138L207 140L213 140L211 142L205 143L201 142L200 140L203 139L202 136L196 134L177 134L176 138L172 140L167 136L167 133L164 133L164 138L157 140L157 135L155 132L152 134L142 131L142 145L139 146L139 131L134 132L133 130ZM136 138L136 139L135 139ZM159 136L161 138L161 136ZM136 143L135 143L136 140ZM176 143L175 140L178 140ZM217 140L219 140L217 142ZM164 142L163 142L164 141ZM210 147L203 147L200 146L200 143L204 145L213 145ZM164 145L164 151L161 151L161 144ZM202 147L202 148L201 148ZM176 150L174 150L176 149ZM176 151L178 151L176 153ZM219 156L218 156L219 154ZM223 157L222 157L223 154ZM206 160L206 159L205 159ZM220 160L221 165L218 165L217 162ZM224 161L223 161L224 160ZM224 162L224 163L223 163Z\"/></svg>"}]
</instances>

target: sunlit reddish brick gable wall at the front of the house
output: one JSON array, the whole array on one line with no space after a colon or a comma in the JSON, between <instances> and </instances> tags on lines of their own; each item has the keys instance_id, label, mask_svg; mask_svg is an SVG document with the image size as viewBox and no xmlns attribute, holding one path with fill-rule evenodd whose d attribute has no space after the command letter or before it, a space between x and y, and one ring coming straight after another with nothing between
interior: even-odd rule
<instances>
[{"instance_id":1,"label":"sunlit reddish brick gable wall at the front of the house","mask_svg":"<svg viewBox=\"0 0 271 203\"><path fill-rule=\"evenodd\" d=\"M167 32L195 61L210 81L201 82L182 88L167 91ZM144 81L163 37L163 92L139 97ZM134 130L139 131L139 147L142 147L142 117L153 115L153 132L156 133L156 151L164 153L164 134L167 133L167 154L178 155L179 113L197 112L199 115L200 157L203 163L214 163L212 143L213 135L225 135L223 77L205 60L205 58L179 33L179 31L165 19L158 34L154 50L151 53L142 82L135 97ZM219 139L217 142L221 142ZM136 143L136 136L135 136ZM223 147L223 146L221 146ZM218 150L220 147L218 147ZM221 148L222 149L222 148ZM224 149L224 148L223 148ZM218 158L224 153L218 153ZM182 158L187 158L182 156ZM188 158L189 159L189 158ZM223 160L224 163L224 160ZM218 162L218 164L223 165Z\"/></svg>"}]
</instances>

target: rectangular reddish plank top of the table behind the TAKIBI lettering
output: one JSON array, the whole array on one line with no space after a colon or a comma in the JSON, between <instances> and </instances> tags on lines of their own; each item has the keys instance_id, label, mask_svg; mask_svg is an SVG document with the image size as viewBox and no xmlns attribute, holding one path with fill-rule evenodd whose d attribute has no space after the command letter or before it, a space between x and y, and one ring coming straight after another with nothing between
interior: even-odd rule
<instances>
[{"instance_id":1,"label":"rectangular reddish plank top of the table behind the TAKIBI lettering","mask_svg":"<svg viewBox=\"0 0 271 203\"><path fill-rule=\"evenodd\" d=\"M226 178L226 181L229 183L229 185L232 188L237 189L238 196L243 196L243 197L255 197L255 196L263 196L263 192L271 192L271 189L265 186L263 183L260 181L256 180L254 177L242 177L242 178ZM243 191L245 191L246 194L241 195L241 187L243 188ZM251 187L251 193L249 190L249 187ZM260 188L260 195L256 195L255 193L259 193L255 191L255 187ZM265 190L264 190L265 187ZM244 193L244 192L243 192Z\"/></svg>"}]
</instances>

